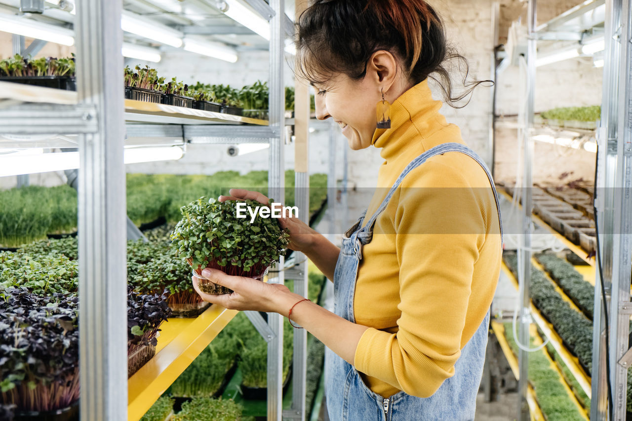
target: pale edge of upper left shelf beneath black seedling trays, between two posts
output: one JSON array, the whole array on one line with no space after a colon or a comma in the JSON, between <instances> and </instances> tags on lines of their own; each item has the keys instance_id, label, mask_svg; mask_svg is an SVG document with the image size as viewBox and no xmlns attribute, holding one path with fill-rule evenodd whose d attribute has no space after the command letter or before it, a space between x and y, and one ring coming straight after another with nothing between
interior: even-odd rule
<instances>
[{"instance_id":1,"label":"pale edge of upper left shelf beneath black seedling trays, between two posts","mask_svg":"<svg viewBox=\"0 0 632 421\"><path fill-rule=\"evenodd\" d=\"M258 126L267 126L269 124L267 120L234 116L233 114L215 113L213 111L204 111L201 109L176 107L167 104L157 104L156 102L135 101L133 99L125 100L125 112L130 114L149 114L152 116L205 120L209 121L209 123L223 121L232 123L248 123Z\"/></svg>"}]
</instances>

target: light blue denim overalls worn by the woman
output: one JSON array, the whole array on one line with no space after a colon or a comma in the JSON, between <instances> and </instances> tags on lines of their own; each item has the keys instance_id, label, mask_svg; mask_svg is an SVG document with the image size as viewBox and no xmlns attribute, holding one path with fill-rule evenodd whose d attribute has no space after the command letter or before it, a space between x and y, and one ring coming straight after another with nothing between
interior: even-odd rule
<instances>
[{"instance_id":1,"label":"light blue denim overalls worn by the woman","mask_svg":"<svg viewBox=\"0 0 632 421\"><path fill-rule=\"evenodd\" d=\"M496 208L498 196L492 176L485 163L471 149L460 143L442 143L416 157L399 175L380 207L363 227L358 222L344 235L343 245L334 272L334 312L344 319L355 323L353 297L358 277L358 264L362 259L362 247L370 243L373 226L377 216L386 209L401 181L428 158L461 152L475 159L487 173L494 191ZM500 220L499 212L499 220ZM501 222L502 238L502 222ZM373 393L362 381L358 371L329 348L326 353L325 370L327 373L327 410L332 421L461 421L473 420L476 409L478 387L483 374L485 348L489 329L489 311L470 341L461 350L461 356L454 365L454 375L443 382L441 387L429 398L418 398L403 391L389 398ZM419 379L423 381L423 379Z\"/></svg>"}]
</instances>

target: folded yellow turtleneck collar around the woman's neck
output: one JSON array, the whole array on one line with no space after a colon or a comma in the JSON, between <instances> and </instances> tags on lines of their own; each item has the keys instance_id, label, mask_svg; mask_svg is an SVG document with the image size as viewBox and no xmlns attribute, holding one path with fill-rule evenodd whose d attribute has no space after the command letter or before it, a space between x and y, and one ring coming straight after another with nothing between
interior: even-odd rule
<instances>
[{"instance_id":1,"label":"folded yellow turtleneck collar around the woman's neck","mask_svg":"<svg viewBox=\"0 0 632 421\"><path fill-rule=\"evenodd\" d=\"M423 139L432 129L428 124L439 113L443 103L432 98L428 80L423 80L401 94L391 104L391 128L376 129L372 145L382 149L380 156L386 161L398 156L408 149L411 142L418 144L418 136L410 136L413 130ZM424 150L428 149L423 145Z\"/></svg>"}]
</instances>

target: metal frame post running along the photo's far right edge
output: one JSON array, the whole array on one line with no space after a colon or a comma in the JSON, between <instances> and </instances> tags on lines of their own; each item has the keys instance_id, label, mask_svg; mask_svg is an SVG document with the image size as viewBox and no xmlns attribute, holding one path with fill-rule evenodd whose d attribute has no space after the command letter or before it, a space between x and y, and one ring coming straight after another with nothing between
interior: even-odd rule
<instances>
[{"instance_id":1,"label":"metal frame post running along the photo's far right edge","mask_svg":"<svg viewBox=\"0 0 632 421\"><path fill-rule=\"evenodd\" d=\"M617 169L614 193L614 236L612 248L612 298L610 311L610 367L613 419L626 419L629 363L621 360L628 351L632 269L632 13L630 0L621 2L621 49L617 121Z\"/></svg>"}]
</instances>

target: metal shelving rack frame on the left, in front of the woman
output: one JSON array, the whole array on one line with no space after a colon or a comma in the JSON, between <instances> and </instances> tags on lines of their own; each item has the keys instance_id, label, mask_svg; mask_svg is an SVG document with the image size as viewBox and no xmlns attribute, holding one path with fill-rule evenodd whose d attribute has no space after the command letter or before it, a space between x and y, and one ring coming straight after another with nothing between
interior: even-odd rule
<instances>
[{"instance_id":1,"label":"metal shelving rack frame on the left, in front of the woman","mask_svg":"<svg viewBox=\"0 0 632 421\"><path fill-rule=\"evenodd\" d=\"M128 419L128 381L126 374L126 210L125 164L123 149L126 135L134 137L183 138L188 143L270 143L268 196L284 200L284 37L293 32L291 21L284 14L284 0L245 0L270 23L270 100L269 121L234 118L226 114L198 112L157 104L136 104L125 101L119 74L123 57L119 52L123 43L121 31L121 2L85 0L77 4L75 37L77 51L77 92L33 90L17 95L23 104L0 109L2 133L76 135L80 154L78 186L78 241L80 253L80 372L82 398L81 419L90 421ZM297 5L298 10L298 5ZM15 44L15 43L14 43ZM37 43L40 46L41 42ZM28 88L27 88L28 90ZM303 92L304 91L304 92ZM299 93L301 92L301 93ZM48 95L55 97L49 102ZM301 97L305 104L301 104ZM18 99L8 97L4 99ZM297 135L301 147L300 168L296 171L297 205L308 208L307 124L309 94L307 87L297 88L296 104L305 118L297 118ZM19 99L18 99L19 101ZM32 102L29 102L32 101ZM149 109L148 107L155 109ZM297 110L298 111L298 110ZM214 114L214 115L211 115ZM297 115L298 117L298 115ZM127 122L127 123L126 123ZM140 124L139 124L140 123ZM251 126L234 126L251 123ZM297 143L297 145L298 145ZM22 143L23 145L24 143ZM35 147L33 143L30 147ZM42 145L39 145L42 147ZM59 147L48 145L47 147ZM305 213L305 212L304 212ZM308 216L304 216L308 217ZM297 253L300 254L300 253ZM296 266L288 270L270 271L269 283L284 283L284 278L295 279L297 293L307 296L307 259L296 257ZM284 267L283 258L279 267ZM204 316L204 317L203 317ZM281 417L305 419L305 365L307 336L305 331L295 334L294 393L291 411L282 411L283 317L270 313L265 322L258 313L248 312L257 330L268 343L267 419L281 421ZM205 322L209 326L197 326ZM195 334L220 329L229 320L229 313L213 306L192 322ZM222 326L223 324L223 326ZM219 326L219 327L218 327ZM186 330L186 329L185 329ZM207 332L208 343L214 334ZM179 338L179 336L178 336ZM182 351L174 339L173 351ZM204 341L200 342L204 343ZM188 363L205 345L188 344ZM196 348L195 350L192 350ZM198 349L199 348L199 349ZM164 362L164 361L162 361ZM171 365L174 360L171 360ZM186 365L188 365L186 363ZM184 370L183 361L177 362ZM153 372L153 379L173 377L175 369L162 367L161 362L143 367ZM180 367L182 366L182 367ZM138 376L130 379L134 398L144 396L138 389ZM153 381L147 387L153 387ZM162 386L156 386L161 388ZM155 396L157 398L157 396ZM150 404L149 404L150 405ZM147 402L142 406L147 406ZM149 407L149 406L147 406ZM138 408L137 411L138 412ZM142 415L142 414L140 414Z\"/></svg>"}]
</instances>

